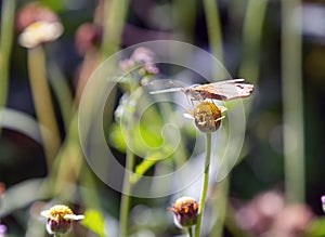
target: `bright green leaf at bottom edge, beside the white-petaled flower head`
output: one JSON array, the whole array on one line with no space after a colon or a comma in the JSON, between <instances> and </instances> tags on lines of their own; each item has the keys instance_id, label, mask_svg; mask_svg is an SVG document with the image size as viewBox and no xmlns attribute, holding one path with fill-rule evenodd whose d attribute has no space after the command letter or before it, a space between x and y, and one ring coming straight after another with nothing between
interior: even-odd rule
<instances>
[{"instance_id":1,"label":"bright green leaf at bottom edge, beside the white-petaled flower head","mask_svg":"<svg viewBox=\"0 0 325 237\"><path fill-rule=\"evenodd\" d=\"M96 210L88 210L81 224L101 237L105 237L104 219L101 212Z\"/></svg>"}]
</instances>

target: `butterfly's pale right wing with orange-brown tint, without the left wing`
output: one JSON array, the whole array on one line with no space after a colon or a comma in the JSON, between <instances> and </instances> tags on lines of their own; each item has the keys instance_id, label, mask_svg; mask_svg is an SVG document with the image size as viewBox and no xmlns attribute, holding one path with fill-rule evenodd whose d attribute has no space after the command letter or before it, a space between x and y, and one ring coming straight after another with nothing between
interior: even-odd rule
<instances>
[{"instance_id":1,"label":"butterfly's pale right wing with orange-brown tint, without the left wing","mask_svg":"<svg viewBox=\"0 0 325 237\"><path fill-rule=\"evenodd\" d=\"M253 84L243 83L244 79L218 81L209 84L197 85L194 90L206 98L229 101L247 97L253 90Z\"/></svg>"}]
</instances>

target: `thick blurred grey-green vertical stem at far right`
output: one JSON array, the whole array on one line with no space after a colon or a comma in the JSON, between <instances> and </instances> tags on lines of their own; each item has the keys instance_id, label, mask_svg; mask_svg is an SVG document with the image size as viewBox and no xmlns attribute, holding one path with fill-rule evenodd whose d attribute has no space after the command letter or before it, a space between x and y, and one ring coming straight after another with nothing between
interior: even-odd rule
<instances>
[{"instance_id":1,"label":"thick blurred grey-green vertical stem at far right","mask_svg":"<svg viewBox=\"0 0 325 237\"><path fill-rule=\"evenodd\" d=\"M301 3L282 0L282 91L286 199L304 201Z\"/></svg>"}]
</instances>

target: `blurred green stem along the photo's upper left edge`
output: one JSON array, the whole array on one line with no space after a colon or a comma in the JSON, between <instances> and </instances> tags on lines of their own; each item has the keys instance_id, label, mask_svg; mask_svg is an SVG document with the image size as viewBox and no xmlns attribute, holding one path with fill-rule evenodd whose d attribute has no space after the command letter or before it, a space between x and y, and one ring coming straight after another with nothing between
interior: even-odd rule
<instances>
[{"instance_id":1,"label":"blurred green stem along the photo's upper left edge","mask_svg":"<svg viewBox=\"0 0 325 237\"><path fill-rule=\"evenodd\" d=\"M13 25L15 0L3 0L1 11L1 36L0 36L0 108L4 107L8 97L10 55L13 42Z\"/></svg>"}]
</instances>

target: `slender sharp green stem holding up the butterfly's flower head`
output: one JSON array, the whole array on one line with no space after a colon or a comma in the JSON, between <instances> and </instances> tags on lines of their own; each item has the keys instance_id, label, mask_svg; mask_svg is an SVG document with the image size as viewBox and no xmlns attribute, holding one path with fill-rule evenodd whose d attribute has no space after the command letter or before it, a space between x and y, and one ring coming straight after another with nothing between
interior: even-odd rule
<instances>
[{"instance_id":1,"label":"slender sharp green stem holding up the butterfly's flower head","mask_svg":"<svg viewBox=\"0 0 325 237\"><path fill-rule=\"evenodd\" d=\"M211 133L206 133L206 161L205 161L205 173L204 173L204 184L199 200L199 213L197 215L197 224L195 228L195 237L199 237L199 231L203 220L203 213L205 210L205 203L207 198L207 190L209 184L209 170L210 170L210 158L211 158Z\"/></svg>"}]
</instances>

